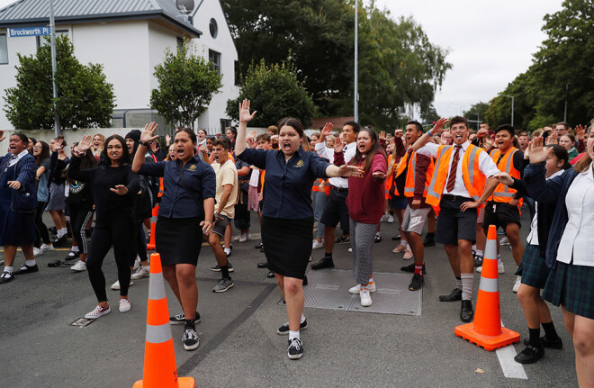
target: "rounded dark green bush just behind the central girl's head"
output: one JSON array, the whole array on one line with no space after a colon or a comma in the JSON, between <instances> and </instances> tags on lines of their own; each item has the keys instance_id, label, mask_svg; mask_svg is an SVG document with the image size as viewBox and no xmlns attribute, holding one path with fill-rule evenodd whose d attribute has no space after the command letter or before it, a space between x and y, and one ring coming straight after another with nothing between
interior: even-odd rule
<instances>
[{"instance_id":1,"label":"rounded dark green bush just behind the central girl's head","mask_svg":"<svg viewBox=\"0 0 594 388\"><path fill-rule=\"evenodd\" d=\"M238 120L239 102L251 100L251 109L257 111L251 125L266 127L274 125L284 117L299 119L305 128L311 125L313 101L302 81L297 79L297 70L292 64L250 65L243 87L235 100L227 103L227 114Z\"/></svg>"}]
</instances>

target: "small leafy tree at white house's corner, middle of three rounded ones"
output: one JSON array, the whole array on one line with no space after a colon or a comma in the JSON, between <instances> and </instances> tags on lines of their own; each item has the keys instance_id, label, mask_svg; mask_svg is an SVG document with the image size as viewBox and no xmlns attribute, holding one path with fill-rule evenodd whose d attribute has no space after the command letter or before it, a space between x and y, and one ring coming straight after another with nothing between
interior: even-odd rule
<instances>
[{"instance_id":1,"label":"small leafy tree at white house's corner, middle of three rounded ones","mask_svg":"<svg viewBox=\"0 0 594 388\"><path fill-rule=\"evenodd\" d=\"M217 70L196 55L188 41L184 41L175 53L167 49L165 59L155 67L154 75L158 88L150 95L150 106L172 126L193 128L221 86Z\"/></svg>"}]
</instances>

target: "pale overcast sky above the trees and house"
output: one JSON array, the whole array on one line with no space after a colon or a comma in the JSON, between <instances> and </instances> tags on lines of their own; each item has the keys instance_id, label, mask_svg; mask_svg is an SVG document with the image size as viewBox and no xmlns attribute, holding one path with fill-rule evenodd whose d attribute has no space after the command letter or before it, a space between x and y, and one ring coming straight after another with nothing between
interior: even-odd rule
<instances>
[{"instance_id":1,"label":"pale overcast sky above the trees and house","mask_svg":"<svg viewBox=\"0 0 594 388\"><path fill-rule=\"evenodd\" d=\"M366 2L369 0L365 0ZM0 0L0 8L14 0ZM545 14L562 0L375 0L393 17L412 16L429 41L449 50L446 73L435 107L442 116L461 114L489 102L532 63L545 40Z\"/></svg>"}]
</instances>

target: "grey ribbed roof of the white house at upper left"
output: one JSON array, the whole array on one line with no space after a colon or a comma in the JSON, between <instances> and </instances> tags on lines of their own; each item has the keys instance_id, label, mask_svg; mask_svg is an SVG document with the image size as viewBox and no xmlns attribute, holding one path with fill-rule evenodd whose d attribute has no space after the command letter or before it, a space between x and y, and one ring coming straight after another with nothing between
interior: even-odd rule
<instances>
[{"instance_id":1,"label":"grey ribbed roof of the white house at upper left","mask_svg":"<svg viewBox=\"0 0 594 388\"><path fill-rule=\"evenodd\" d=\"M198 38L202 32L180 13L175 0L53 0L56 24L160 19ZM0 28L47 25L48 0L18 0L0 9Z\"/></svg>"}]
</instances>

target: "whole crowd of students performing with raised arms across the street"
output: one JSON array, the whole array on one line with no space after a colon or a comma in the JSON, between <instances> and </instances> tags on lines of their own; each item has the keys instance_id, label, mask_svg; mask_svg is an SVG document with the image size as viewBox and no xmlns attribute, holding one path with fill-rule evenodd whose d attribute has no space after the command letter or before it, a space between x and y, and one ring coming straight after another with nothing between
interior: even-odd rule
<instances>
[{"instance_id":1,"label":"whole crowd of students performing with raised arms across the street","mask_svg":"<svg viewBox=\"0 0 594 388\"><path fill-rule=\"evenodd\" d=\"M182 342L192 350L199 346L194 325L200 322L196 264L202 239L217 260L211 270L221 275L212 291L226 292L233 287L231 224L238 229L236 241L251 239L254 211L262 232L257 248L266 254L258 267L268 269L283 293L288 321L277 332L289 336L288 356L297 359L303 355L301 330L307 328L302 286L313 249L324 249L311 265L320 270L334 266L335 244L350 243L356 285L349 292L370 306L377 289L374 243L382 240L381 222L395 221L395 214L400 236L392 239L400 241L392 252L414 259L401 268L412 273L410 291L424 284L424 248L443 244L455 288L439 300L460 301L460 319L468 322L473 272L482 270L485 232L495 225L500 244L512 250L518 276L513 291L528 326L526 347L516 360L534 363L545 347L563 347L548 301L563 308L579 383L594 383L591 125L572 129L560 122L528 134L510 125L493 131L482 122L474 132L464 117L455 116L440 119L429 131L411 121L387 136L346 122L339 133L327 123L307 137L292 118L266 133L247 133L256 114L243 101L237 129L215 138L181 128L173 139L166 137L165 151L158 147L155 123L125 138L85 136L72 145L70 158L61 138L47 144L14 133L9 153L0 158L5 261L0 284L38 271L35 257L65 244L71 234L66 259L78 259L73 271L88 271L98 301L86 318L111 311L101 266L112 247L118 267L112 289L120 290L119 310L130 311L128 288L148 276L145 229L158 206L157 252L182 306L170 320L184 324ZM3 135L0 131L0 141ZM530 213L527 241L520 238L522 209ZM53 238L42 220L46 211L55 224ZM26 260L14 270L17 247ZM503 273L499 245L498 259Z\"/></svg>"}]
</instances>

